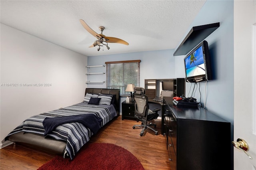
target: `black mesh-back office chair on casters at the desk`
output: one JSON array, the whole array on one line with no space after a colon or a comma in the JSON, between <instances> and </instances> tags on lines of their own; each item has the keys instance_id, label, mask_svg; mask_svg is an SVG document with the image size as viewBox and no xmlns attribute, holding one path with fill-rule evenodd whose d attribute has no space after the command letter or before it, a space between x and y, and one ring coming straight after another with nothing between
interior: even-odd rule
<instances>
[{"instance_id":1,"label":"black mesh-back office chair on casters at the desk","mask_svg":"<svg viewBox=\"0 0 256 170\"><path fill-rule=\"evenodd\" d=\"M134 99L134 105L135 105L135 114L134 117L142 121L141 125L134 125L132 128L135 127L143 127L140 136L143 135L146 128L150 128L155 132L155 134L158 134L158 131L155 130L156 124L150 123L148 125L148 121L152 121L153 119L158 118L158 111L160 109L154 109L153 111L149 110L148 108L148 97L145 95L145 89L142 87L134 87L134 93L132 95ZM150 127L154 126L154 128Z\"/></svg>"}]
</instances>

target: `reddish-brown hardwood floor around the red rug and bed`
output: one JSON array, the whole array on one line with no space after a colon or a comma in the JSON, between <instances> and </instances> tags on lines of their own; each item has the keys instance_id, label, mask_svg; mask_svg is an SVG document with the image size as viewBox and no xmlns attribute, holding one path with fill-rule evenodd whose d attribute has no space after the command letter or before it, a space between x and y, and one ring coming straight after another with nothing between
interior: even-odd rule
<instances>
[{"instance_id":1,"label":"reddish-brown hardwood floor around the red rug and bed","mask_svg":"<svg viewBox=\"0 0 256 170\"><path fill-rule=\"evenodd\" d=\"M140 122L123 120L121 116L108 123L89 142L112 143L129 150L141 162L145 170L169 170L166 139L161 134L161 119L154 120L158 135L150 129L140 136L141 128L132 129ZM36 170L55 155L46 154L19 144L0 149L1 170Z\"/></svg>"}]
</instances>

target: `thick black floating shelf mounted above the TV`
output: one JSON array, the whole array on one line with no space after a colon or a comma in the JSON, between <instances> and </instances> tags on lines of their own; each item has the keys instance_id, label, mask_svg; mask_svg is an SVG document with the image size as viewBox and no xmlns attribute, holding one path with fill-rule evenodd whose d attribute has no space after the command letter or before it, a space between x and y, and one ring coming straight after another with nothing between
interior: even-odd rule
<instances>
[{"instance_id":1,"label":"thick black floating shelf mounted above the TV","mask_svg":"<svg viewBox=\"0 0 256 170\"><path fill-rule=\"evenodd\" d=\"M173 56L186 55L189 51L196 47L196 45L202 42L219 27L219 22L192 27L188 35L184 38L182 43L180 43L179 47L174 51Z\"/></svg>"}]
</instances>

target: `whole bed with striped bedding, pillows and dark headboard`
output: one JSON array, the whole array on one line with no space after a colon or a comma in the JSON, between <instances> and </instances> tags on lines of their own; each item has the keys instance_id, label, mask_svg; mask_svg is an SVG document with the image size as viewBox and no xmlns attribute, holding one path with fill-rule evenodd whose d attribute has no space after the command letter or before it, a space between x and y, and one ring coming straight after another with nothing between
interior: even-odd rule
<instances>
[{"instance_id":1,"label":"whole bed with striped bedding, pillows and dark headboard","mask_svg":"<svg viewBox=\"0 0 256 170\"><path fill-rule=\"evenodd\" d=\"M119 89L86 88L81 103L30 117L5 140L73 159L93 134L119 116L119 107Z\"/></svg>"}]
</instances>

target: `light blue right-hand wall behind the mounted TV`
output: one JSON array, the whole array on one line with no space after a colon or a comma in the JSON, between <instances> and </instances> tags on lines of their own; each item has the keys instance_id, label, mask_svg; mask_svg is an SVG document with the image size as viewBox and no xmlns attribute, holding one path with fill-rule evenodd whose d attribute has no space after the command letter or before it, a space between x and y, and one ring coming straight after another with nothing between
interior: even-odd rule
<instances>
[{"instance_id":1,"label":"light blue right-hand wall behind the mounted TV","mask_svg":"<svg viewBox=\"0 0 256 170\"><path fill-rule=\"evenodd\" d=\"M208 42L212 61L213 80L201 83L201 101L206 109L234 124L234 2L231 0L208 0L188 28L220 22L220 27L205 40ZM186 36L186 35L184 35ZM176 57L176 59L178 56ZM184 56L180 56L183 60ZM178 65L175 65L177 67ZM186 95L191 83L186 83ZM199 88L199 83L197 84ZM192 83L194 87L194 83ZM192 89L191 89L192 91ZM191 92L189 96L191 96ZM200 100L197 89L194 96ZM203 105L203 106L204 106Z\"/></svg>"}]
</instances>

